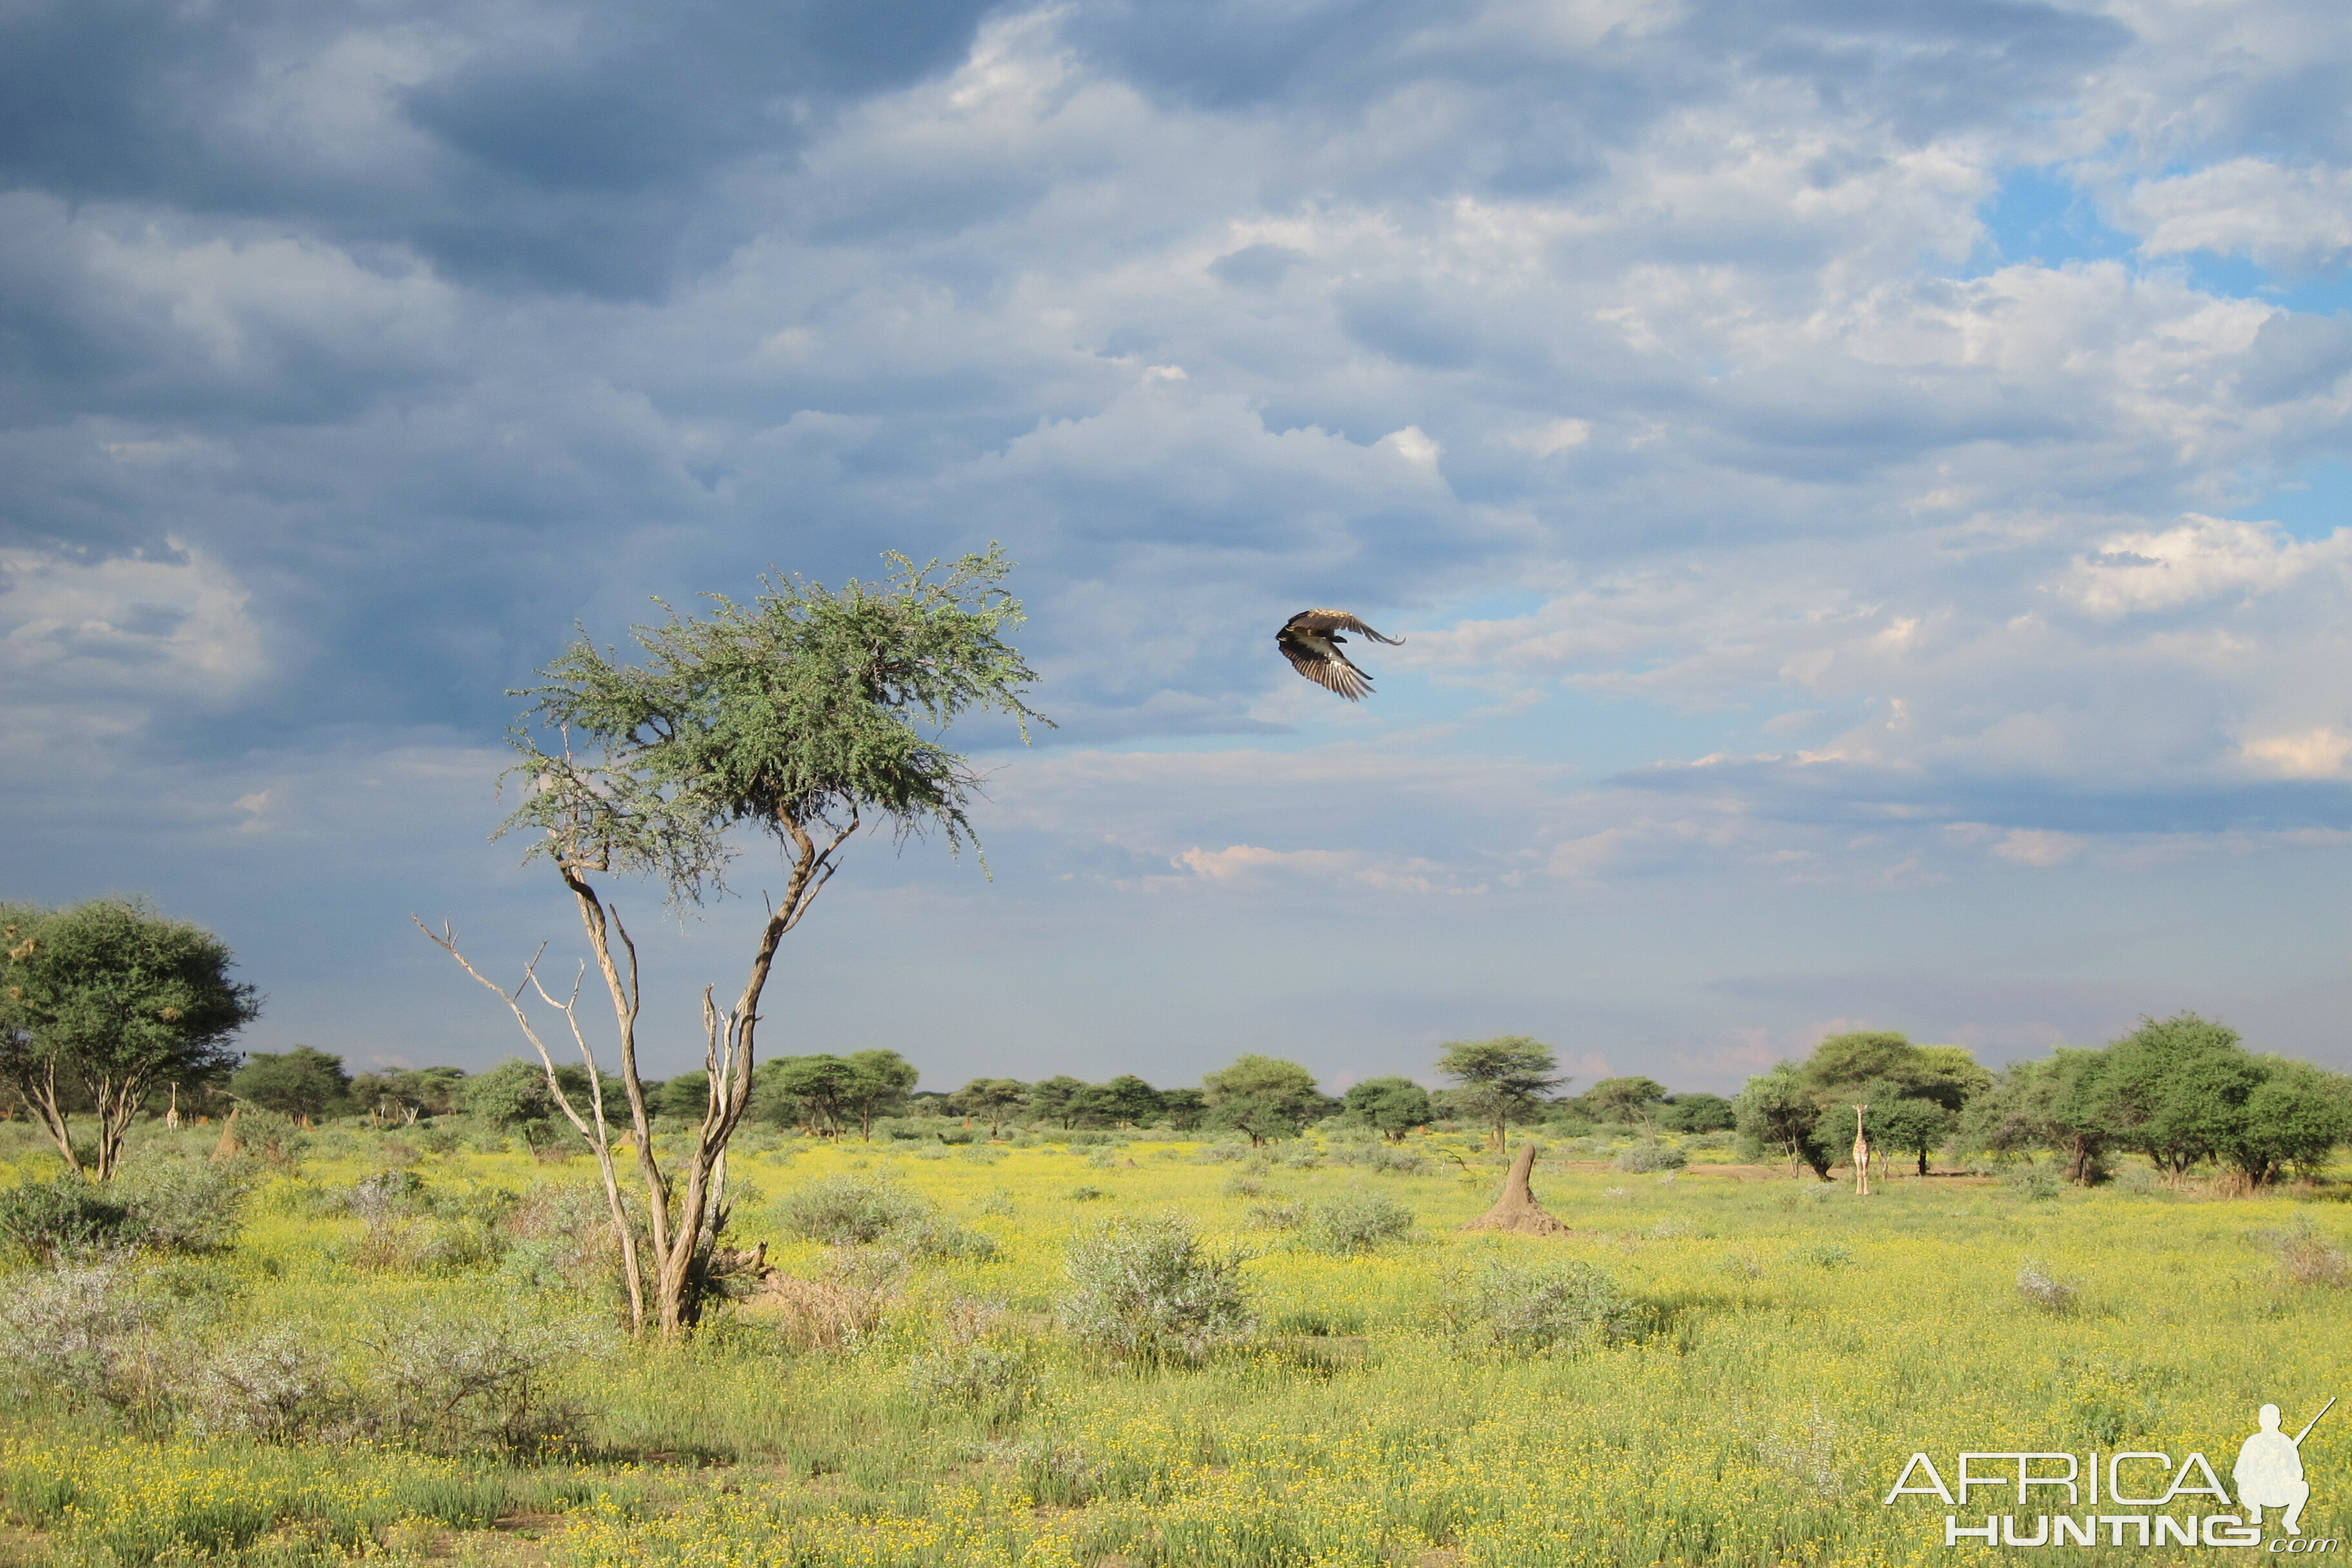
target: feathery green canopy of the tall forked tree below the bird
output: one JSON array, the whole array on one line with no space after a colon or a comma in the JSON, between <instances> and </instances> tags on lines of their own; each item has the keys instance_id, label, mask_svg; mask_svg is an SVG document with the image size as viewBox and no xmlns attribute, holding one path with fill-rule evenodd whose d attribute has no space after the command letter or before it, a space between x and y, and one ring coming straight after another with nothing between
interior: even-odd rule
<instances>
[{"instance_id":1,"label":"feathery green canopy of the tall forked tree below the bird","mask_svg":"<svg viewBox=\"0 0 2352 1568\"><path fill-rule=\"evenodd\" d=\"M541 830L532 856L661 877L680 903L724 889L736 823L790 842L882 813L960 849L981 773L924 731L971 710L1023 733L1037 717L1021 701L1035 672L1002 637L1021 623L1011 562L997 548L946 574L884 562L887 585L771 576L750 607L706 595L703 618L633 630L637 665L574 642L517 693L534 698L510 733L529 792L506 830Z\"/></svg>"}]
</instances>

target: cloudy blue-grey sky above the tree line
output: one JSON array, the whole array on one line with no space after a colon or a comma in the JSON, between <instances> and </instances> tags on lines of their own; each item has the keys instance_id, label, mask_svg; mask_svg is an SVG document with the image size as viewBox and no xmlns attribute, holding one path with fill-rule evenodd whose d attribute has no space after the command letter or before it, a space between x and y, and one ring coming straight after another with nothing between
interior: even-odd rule
<instances>
[{"instance_id":1,"label":"cloudy blue-grey sky above the tree line","mask_svg":"<svg viewBox=\"0 0 2352 1568\"><path fill-rule=\"evenodd\" d=\"M1002 541L1056 729L762 1051L2352 1067L2347 78L2338 0L19 0L0 896L489 1065L412 917L581 950L508 691ZM614 898L689 1067L757 900Z\"/></svg>"}]
</instances>

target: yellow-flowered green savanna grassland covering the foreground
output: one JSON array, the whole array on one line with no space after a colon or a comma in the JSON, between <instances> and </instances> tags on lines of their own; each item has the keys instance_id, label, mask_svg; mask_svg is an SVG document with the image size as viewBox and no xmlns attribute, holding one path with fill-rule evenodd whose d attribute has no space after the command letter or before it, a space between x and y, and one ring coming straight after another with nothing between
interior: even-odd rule
<instances>
[{"instance_id":1,"label":"yellow-flowered green savanna grassland covering the foreground","mask_svg":"<svg viewBox=\"0 0 2352 1568\"><path fill-rule=\"evenodd\" d=\"M1096 1138L746 1135L734 1232L779 1274L661 1347L628 1342L581 1265L586 1159L320 1133L256 1173L230 1246L115 1265L106 1288L148 1302L146 1375L111 1403L9 1406L0 1547L92 1568L1962 1563L1994 1552L1947 1549L1940 1502L1882 1505L1915 1450L2201 1450L2227 1476L2256 1406L2293 1427L2352 1392L2340 1187L1898 1175L1858 1199L1708 1168L1719 1147L1637 1175L1581 1143L1536 1166L1571 1234L1519 1237L1461 1229L1501 1178L1461 1138ZM14 1159L7 1180L49 1173L31 1143ZM795 1194L875 1182L875 1239L793 1234ZM1317 1229L1395 1213L1371 1197L1409 1232ZM1087 1349L1073 1251L1169 1211L1211 1260L1242 1253L1247 1333L1197 1366ZM1550 1345L1494 1333L1496 1281L1562 1262L1609 1312ZM14 1267L14 1293L42 1272ZM496 1345L536 1368L506 1443L292 1415L270 1441L207 1425L198 1392L242 1368L247 1410L268 1406L278 1354L308 1368L299 1396L325 1368L365 1403L402 1356L449 1373ZM2352 1535L2352 1413L2305 1465L2305 1535Z\"/></svg>"}]
</instances>

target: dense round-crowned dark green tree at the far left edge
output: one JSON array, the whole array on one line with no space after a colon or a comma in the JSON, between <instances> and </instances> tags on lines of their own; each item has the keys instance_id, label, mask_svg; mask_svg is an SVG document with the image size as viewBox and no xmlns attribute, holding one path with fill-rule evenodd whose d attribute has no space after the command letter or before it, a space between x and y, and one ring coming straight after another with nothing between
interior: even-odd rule
<instances>
[{"instance_id":1,"label":"dense round-crowned dark green tree at the far left edge","mask_svg":"<svg viewBox=\"0 0 2352 1568\"><path fill-rule=\"evenodd\" d=\"M235 959L202 926L132 898L66 910L0 905L0 1079L33 1107L75 1173L108 1180L151 1088L212 1077L238 1060L228 1039L261 1016ZM73 1147L73 1091L99 1143Z\"/></svg>"}]
</instances>

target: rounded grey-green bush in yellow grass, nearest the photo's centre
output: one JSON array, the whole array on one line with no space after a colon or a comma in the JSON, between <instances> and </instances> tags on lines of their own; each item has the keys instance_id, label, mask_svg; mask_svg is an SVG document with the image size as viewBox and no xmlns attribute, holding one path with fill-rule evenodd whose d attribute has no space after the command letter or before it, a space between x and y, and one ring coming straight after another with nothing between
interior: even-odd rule
<instances>
[{"instance_id":1,"label":"rounded grey-green bush in yellow grass, nearest the photo's centre","mask_svg":"<svg viewBox=\"0 0 2352 1568\"><path fill-rule=\"evenodd\" d=\"M1120 1361L1197 1366L1256 1326L1242 1258L1211 1253L1176 1213L1110 1220L1070 1248L1063 1269L1063 1331Z\"/></svg>"}]
</instances>

